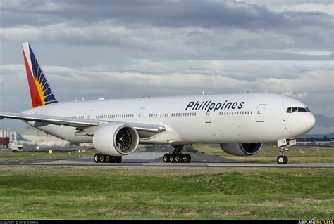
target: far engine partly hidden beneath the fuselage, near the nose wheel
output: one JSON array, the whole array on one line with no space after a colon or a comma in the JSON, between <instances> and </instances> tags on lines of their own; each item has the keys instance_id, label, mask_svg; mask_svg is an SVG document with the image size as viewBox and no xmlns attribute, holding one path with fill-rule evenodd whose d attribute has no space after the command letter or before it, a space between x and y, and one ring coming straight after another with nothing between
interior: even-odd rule
<instances>
[{"instance_id":1,"label":"far engine partly hidden beneath the fuselage, near the nose wheel","mask_svg":"<svg viewBox=\"0 0 334 224\"><path fill-rule=\"evenodd\" d=\"M221 149L235 156L252 156L260 152L262 143L222 143L219 144Z\"/></svg>"}]
</instances>

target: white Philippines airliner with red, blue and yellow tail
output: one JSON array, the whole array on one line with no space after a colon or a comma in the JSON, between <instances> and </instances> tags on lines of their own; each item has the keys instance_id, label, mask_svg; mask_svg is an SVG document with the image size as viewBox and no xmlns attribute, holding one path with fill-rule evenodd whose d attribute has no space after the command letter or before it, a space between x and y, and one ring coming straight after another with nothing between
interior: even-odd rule
<instances>
[{"instance_id":1,"label":"white Philippines airliner with red, blue and yellow tail","mask_svg":"<svg viewBox=\"0 0 334 224\"><path fill-rule=\"evenodd\" d=\"M29 43L23 57L32 108L0 112L71 143L93 143L94 162L119 163L141 145L172 145L163 162L191 161L185 145L217 143L223 152L252 156L277 142L276 161L316 119L304 103L277 93L237 93L60 102Z\"/></svg>"}]
</instances>

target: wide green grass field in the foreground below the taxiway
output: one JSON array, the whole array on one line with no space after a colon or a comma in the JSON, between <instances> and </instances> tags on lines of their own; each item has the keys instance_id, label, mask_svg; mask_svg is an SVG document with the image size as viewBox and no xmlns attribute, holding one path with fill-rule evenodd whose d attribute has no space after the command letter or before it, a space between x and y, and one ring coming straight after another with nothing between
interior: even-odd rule
<instances>
[{"instance_id":1,"label":"wide green grass field in the foreground below the taxiway","mask_svg":"<svg viewBox=\"0 0 334 224\"><path fill-rule=\"evenodd\" d=\"M333 219L334 169L0 166L0 220Z\"/></svg>"}]
</instances>

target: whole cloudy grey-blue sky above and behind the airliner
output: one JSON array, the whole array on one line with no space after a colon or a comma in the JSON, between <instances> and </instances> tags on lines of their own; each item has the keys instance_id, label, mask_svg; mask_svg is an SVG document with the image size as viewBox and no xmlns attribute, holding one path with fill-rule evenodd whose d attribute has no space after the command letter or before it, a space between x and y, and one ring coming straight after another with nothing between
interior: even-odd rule
<instances>
[{"instance_id":1,"label":"whole cloudy grey-blue sky above and behind the airliner","mask_svg":"<svg viewBox=\"0 0 334 224\"><path fill-rule=\"evenodd\" d=\"M29 41L61 101L269 91L334 117L333 15L331 0L0 1L0 111L31 107Z\"/></svg>"}]
</instances>

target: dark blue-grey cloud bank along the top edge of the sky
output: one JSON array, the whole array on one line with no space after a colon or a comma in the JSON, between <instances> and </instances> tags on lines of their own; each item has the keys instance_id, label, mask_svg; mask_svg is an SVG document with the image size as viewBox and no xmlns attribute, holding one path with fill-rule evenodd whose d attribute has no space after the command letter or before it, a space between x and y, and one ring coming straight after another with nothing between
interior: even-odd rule
<instances>
[{"instance_id":1,"label":"dark blue-grey cloud bank along the top edge of the sky","mask_svg":"<svg viewBox=\"0 0 334 224\"><path fill-rule=\"evenodd\" d=\"M273 25L284 19L264 7L233 1L4 1L0 8L11 12L3 16L6 25L111 19L159 27L249 27ZM30 18L23 20L24 15Z\"/></svg>"}]
</instances>

